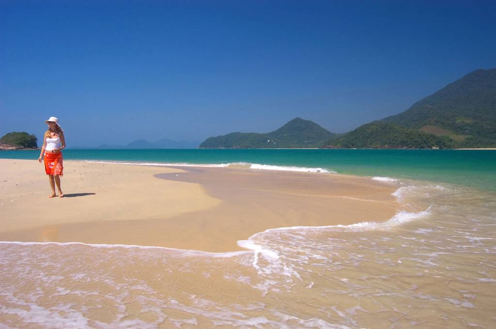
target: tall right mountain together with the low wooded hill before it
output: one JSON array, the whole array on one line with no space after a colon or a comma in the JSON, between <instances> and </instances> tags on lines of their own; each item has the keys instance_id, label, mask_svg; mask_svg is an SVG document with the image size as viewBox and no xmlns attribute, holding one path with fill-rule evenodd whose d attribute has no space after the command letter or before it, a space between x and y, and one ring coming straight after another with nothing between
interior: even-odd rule
<instances>
[{"instance_id":1,"label":"tall right mountain together with the low wooded hill before it","mask_svg":"<svg viewBox=\"0 0 496 329\"><path fill-rule=\"evenodd\" d=\"M473 71L410 109L364 124L324 147L496 147L496 69Z\"/></svg>"}]
</instances>

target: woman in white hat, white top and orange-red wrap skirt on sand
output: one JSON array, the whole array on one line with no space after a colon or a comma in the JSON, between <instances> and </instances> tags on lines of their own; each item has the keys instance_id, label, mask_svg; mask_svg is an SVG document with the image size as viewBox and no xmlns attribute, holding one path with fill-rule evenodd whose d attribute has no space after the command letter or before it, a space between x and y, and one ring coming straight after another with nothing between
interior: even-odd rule
<instances>
[{"instance_id":1,"label":"woman in white hat, white top and orange-red wrap skirt on sand","mask_svg":"<svg viewBox=\"0 0 496 329\"><path fill-rule=\"evenodd\" d=\"M50 119L45 120L48 124L48 130L44 135L44 142L41 148L40 157L45 160L45 172L48 175L48 180L50 182L50 187L52 188L52 194L49 198L56 197L55 185L57 184L57 189L59 190L59 196L62 198L63 193L61 189L61 178L63 176L63 166L62 166L62 152L61 150L65 148L65 138L63 136L63 130L59 125L59 119L55 116L50 117Z\"/></svg>"}]
</instances>

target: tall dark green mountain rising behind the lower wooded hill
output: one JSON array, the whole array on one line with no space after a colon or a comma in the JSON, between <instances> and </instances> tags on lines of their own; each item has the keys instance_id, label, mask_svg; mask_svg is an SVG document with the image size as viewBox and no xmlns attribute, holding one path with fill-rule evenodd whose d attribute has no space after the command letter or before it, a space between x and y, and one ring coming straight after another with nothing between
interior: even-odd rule
<instances>
[{"instance_id":1,"label":"tall dark green mountain rising behind the lower wooded hill","mask_svg":"<svg viewBox=\"0 0 496 329\"><path fill-rule=\"evenodd\" d=\"M381 121L413 129L429 124L466 136L456 147L495 147L496 69L471 72Z\"/></svg>"}]
</instances>

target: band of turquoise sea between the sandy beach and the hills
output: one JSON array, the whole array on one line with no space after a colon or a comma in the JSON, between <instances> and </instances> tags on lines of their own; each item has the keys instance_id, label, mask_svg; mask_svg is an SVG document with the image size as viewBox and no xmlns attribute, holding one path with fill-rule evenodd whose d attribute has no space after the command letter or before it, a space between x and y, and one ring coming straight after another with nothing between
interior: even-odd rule
<instances>
[{"instance_id":1,"label":"band of turquoise sea between the sandy beach and the hills","mask_svg":"<svg viewBox=\"0 0 496 329\"><path fill-rule=\"evenodd\" d=\"M3 159L38 159L39 152L0 151ZM160 164L271 164L338 173L410 178L496 190L491 150L64 150L66 160Z\"/></svg>"}]
</instances>

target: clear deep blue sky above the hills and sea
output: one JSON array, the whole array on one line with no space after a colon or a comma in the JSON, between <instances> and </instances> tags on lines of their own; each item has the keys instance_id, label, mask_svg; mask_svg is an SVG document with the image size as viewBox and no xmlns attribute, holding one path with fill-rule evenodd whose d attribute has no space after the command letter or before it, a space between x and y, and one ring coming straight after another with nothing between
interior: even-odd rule
<instances>
[{"instance_id":1,"label":"clear deep blue sky above the hills and sea","mask_svg":"<svg viewBox=\"0 0 496 329\"><path fill-rule=\"evenodd\" d=\"M0 135L333 132L496 67L496 1L0 1Z\"/></svg>"}]
</instances>

